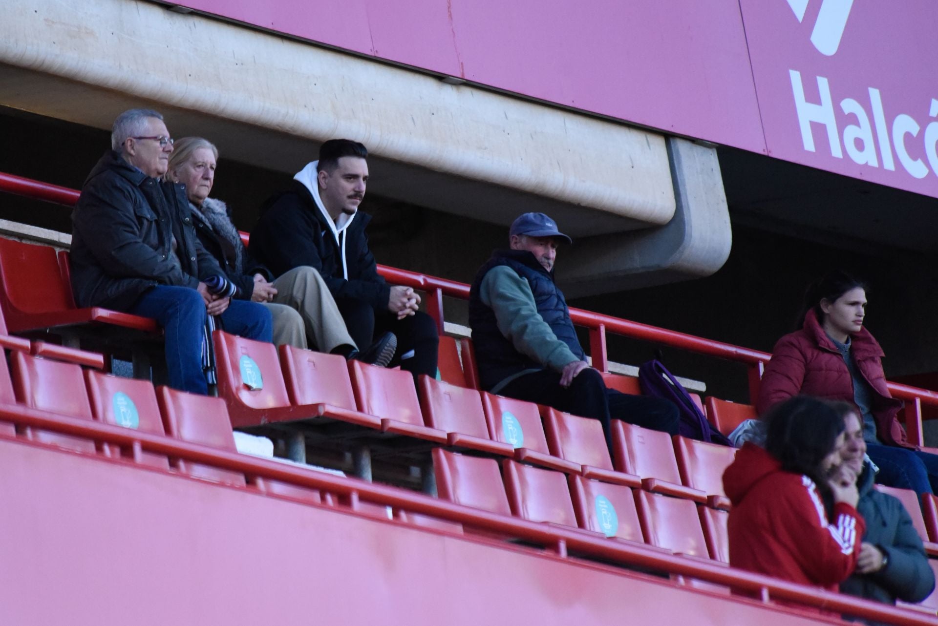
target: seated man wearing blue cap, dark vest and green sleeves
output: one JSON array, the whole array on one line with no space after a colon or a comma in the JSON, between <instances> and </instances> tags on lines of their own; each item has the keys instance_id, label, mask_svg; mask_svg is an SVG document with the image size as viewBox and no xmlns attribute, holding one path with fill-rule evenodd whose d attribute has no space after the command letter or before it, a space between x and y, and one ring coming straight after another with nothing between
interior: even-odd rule
<instances>
[{"instance_id":1,"label":"seated man wearing blue cap, dark vest and green sleeves","mask_svg":"<svg viewBox=\"0 0 938 626\"><path fill-rule=\"evenodd\" d=\"M469 325L479 382L492 394L537 402L602 423L610 419L677 433L677 407L668 400L607 389L570 320L553 282L557 246L571 244L543 213L525 213L511 225L510 249L495 250L469 292Z\"/></svg>"}]
</instances>

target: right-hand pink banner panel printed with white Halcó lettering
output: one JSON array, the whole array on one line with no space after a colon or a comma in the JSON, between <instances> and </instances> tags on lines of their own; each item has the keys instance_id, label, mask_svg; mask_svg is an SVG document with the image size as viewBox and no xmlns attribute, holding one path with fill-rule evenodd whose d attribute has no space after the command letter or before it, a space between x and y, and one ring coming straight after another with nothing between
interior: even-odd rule
<instances>
[{"instance_id":1,"label":"right-hand pink banner panel printed with white Halc\u00f3 lettering","mask_svg":"<svg viewBox=\"0 0 938 626\"><path fill-rule=\"evenodd\" d=\"M740 6L769 155L938 197L938 3Z\"/></svg>"}]
</instances>

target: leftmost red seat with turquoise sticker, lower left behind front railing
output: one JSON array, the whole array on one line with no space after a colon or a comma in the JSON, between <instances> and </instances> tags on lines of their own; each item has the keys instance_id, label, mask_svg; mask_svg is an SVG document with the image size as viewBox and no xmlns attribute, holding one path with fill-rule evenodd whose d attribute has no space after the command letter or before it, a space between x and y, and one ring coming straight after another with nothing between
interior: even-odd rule
<instances>
[{"instance_id":1,"label":"leftmost red seat with turquoise sticker, lower left behind front railing","mask_svg":"<svg viewBox=\"0 0 938 626\"><path fill-rule=\"evenodd\" d=\"M159 414L157 394L149 380L124 379L85 370L84 382L91 400L91 413L98 422L134 428L153 435L166 434ZM133 454L137 463L169 469L165 455L144 450L136 450Z\"/></svg>"}]
</instances>

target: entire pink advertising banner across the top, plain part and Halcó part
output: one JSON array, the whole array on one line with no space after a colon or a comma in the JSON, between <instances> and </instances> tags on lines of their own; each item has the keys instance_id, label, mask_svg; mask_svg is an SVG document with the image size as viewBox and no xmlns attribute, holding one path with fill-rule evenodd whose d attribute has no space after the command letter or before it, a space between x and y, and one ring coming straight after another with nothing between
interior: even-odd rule
<instances>
[{"instance_id":1,"label":"entire pink advertising banner across the top, plain part and Halc\u00f3 part","mask_svg":"<svg viewBox=\"0 0 938 626\"><path fill-rule=\"evenodd\" d=\"M938 197L933 0L184 0L262 28Z\"/></svg>"}]
</instances>

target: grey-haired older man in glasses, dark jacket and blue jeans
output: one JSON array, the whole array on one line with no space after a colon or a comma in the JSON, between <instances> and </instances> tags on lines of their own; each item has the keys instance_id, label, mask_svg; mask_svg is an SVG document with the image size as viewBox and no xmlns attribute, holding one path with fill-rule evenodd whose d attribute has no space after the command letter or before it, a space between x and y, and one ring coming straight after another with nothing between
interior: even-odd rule
<instances>
[{"instance_id":1,"label":"grey-haired older man in glasses, dark jacket and blue jeans","mask_svg":"<svg viewBox=\"0 0 938 626\"><path fill-rule=\"evenodd\" d=\"M88 174L71 216L75 301L157 320L165 332L170 386L205 394L205 316L219 316L236 335L270 341L270 313L209 292L205 280L224 274L195 234L185 187L159 180L173 152L162 115L121 113L111 144Z\"/></svg>"}]
</instances>

